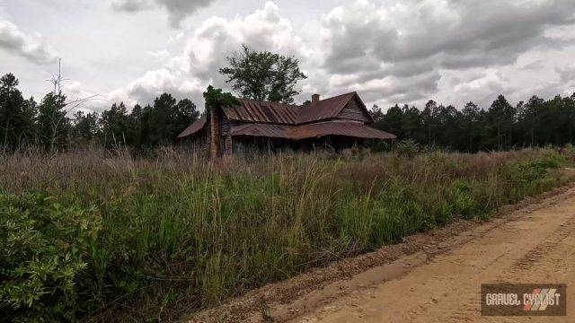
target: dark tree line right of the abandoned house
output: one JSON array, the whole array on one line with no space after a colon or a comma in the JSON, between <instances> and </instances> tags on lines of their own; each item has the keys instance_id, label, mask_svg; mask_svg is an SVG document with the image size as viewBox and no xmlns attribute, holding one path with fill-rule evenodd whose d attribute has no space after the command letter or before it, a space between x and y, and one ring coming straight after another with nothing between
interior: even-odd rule
<instances>
[{"instance_id":1,"label":"dark tree line right of the abandoned house","mask_svg":"<svg viewBox=\"0 0 575 323\"><path fill-rule=\"evenodd\" d=\"M537 96L513 106L499 95L488 109L473 102L463 109L429 100L423 109L394 105L370 109L374 126L398 139L459 152L509 150L547 144L571 144L575 139L575 93L544 100Z\"/></svg>"}]
</instances>

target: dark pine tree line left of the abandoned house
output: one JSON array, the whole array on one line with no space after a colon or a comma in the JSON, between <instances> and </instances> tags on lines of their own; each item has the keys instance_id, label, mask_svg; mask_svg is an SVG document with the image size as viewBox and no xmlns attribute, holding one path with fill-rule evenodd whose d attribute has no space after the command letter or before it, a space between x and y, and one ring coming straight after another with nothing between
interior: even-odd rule
<instances>
[{"instance_id":1,"label":"dark pine tree line left of the abandoned house","mask_svg":"<svg viewBox=\"0 0 575 323\"><path fill-rule=\"evenodd\" d=\"M4 151L41 147L57 151L88 144L107 148L130 146L145 149L174 144L177 135L199 118L190 99L176 100L169 93L145 107L137 104L128 111L121 102L110 109L69 116L69 102L62 92L49 92L40 103L26 100L13 74L0 78L0 143Z\"/></svg>"}]
</instances>

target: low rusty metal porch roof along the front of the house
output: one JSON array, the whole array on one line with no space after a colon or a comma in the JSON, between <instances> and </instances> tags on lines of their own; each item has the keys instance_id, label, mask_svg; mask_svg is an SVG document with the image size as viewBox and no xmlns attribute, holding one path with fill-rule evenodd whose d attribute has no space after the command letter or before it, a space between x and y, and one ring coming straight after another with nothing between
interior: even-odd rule
<instances>
[{"instance_id":1,"label":"low rusty metal porch roof along the front of the house","mask_svg":"<svg viewBox=\"0 0 575 323\"><path fill-rule=\"evenodd\" d=\"M325 135L347 135L366 139L395 139L395 135L359 122L325 121L302 126L248 124L232 127L232 135L264 136L299 140Z\"/></svg>"}]
</instances>

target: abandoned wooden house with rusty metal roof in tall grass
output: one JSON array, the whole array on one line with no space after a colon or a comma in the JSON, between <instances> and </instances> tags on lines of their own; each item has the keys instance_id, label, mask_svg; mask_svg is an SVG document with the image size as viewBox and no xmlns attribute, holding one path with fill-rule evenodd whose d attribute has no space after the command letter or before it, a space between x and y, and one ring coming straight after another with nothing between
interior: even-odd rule
<instances>
[{"instance_id":1,"label":"abandoned wooden house with rusty metal roof in tall grass","mask_svg":"<svg viewBox=\"0 0 575 323\"><path fill-rule=\"evenodd\" d=\"M336 151L354 145L393 140L395 135L373 127L374 120L357 92L297 106L277 102L241 99L241 105L212 111L185 129L180 138L206 145L213 136L221 153L260 150L314 149ZM215 131L211 131L214 127ZM214 134L214 135L211 135Z\"/></svg>"}]
</instances>

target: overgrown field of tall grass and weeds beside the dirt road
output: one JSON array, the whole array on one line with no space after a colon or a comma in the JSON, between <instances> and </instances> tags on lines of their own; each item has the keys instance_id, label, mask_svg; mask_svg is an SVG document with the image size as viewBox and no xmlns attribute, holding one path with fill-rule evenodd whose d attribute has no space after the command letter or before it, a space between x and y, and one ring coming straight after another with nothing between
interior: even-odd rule
<instances>
[{"instance_id":1,"label":"overgrown field of tall grass and weeds beside the dirt road","mask_svg":"<svg viewBox=\"0 0 575 323\"><path fill-rule=\"evenodd\" d=\"M0 155L0 317L169 320L572 178L571 154ZM0 319L1 321L1 319Z\"/></svg>"}]
</instances>

